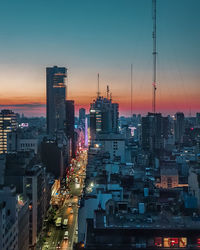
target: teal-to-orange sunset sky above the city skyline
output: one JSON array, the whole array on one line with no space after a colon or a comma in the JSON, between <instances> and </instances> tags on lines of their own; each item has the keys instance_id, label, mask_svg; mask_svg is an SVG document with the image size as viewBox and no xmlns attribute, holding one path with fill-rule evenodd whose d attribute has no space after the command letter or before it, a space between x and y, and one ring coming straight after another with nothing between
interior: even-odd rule
<instances>
[{"instance_id":1,"label":"teal-to-orange sunset sky above the city skyline","mask_svg":"<svg viewBox=\"0 0 200 250\"><path fill-rule=\"evenodd\" d=\"M45 68L68 68L67 98L89 107L109 84L121 115L151 111L151 0L0 3L0 108L45 115ZM157 0L157 111L200 111L200 0Z\"/></svg>"}]
</instances>

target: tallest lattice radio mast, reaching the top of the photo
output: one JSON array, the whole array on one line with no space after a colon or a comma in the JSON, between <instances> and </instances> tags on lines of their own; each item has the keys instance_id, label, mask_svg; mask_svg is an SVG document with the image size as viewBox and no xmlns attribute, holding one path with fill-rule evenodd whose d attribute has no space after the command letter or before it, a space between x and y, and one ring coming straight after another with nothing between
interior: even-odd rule
<instances>
[{"instance_id":1,"label":"tallest lattice radio mast, reaching the top of the photo","mask_svg":"<svg viewBox=\"0 0 200 250\"><path fill-rule=\"evenodd\" d=\"M153 100L152 100L152 111L156 113L156 0L152 0L153 8Z\"/></svg>"}]
</instances>

